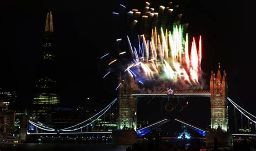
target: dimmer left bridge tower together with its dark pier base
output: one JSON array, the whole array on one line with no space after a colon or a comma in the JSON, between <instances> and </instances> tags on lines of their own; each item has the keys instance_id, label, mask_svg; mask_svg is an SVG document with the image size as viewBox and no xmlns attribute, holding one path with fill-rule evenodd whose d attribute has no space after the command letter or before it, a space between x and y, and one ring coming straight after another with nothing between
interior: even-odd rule
<instances>
[{"instance_id":1,"label":"dimmer left bridge tower together with its dark pier base","mask_svg":"<svg viewBox=\"0 0 256 151\"><path fill-rule=\"evenodd\" d=\"M118 130L112 131L112 143L132 145L137 142L137 100L132 92L137 84L133 78L118 78Z\"/></svg>"}]
</instances>

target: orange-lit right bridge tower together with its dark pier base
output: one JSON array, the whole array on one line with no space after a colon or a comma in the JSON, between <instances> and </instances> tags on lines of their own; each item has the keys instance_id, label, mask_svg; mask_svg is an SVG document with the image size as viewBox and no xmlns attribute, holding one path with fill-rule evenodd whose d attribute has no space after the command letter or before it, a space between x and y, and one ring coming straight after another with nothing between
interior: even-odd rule
<instances>
[{"instance_id":1,"label":"orange-lit right bridge tower together with its dark pier base","mask_svg":"<svg viewBox=\"0 0 256 151\"><path fill-rule=\"evenodd\" d=\"M211 128L206 133L206 147L221 150L233 150L233 136L228 131L227 106L227 75L220 74L220 64L217 75L212 71L210 80L211 91Z\"/></svg>"}]
</instances>

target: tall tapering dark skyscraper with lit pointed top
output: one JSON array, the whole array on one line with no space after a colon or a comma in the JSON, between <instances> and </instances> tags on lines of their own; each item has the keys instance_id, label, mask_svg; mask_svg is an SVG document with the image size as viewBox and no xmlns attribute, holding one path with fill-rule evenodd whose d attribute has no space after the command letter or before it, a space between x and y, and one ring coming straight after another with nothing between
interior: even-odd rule
<instances>
[{"instance_id":1,"label":"tall tapering dark skyscraper with lit pointed top","mask_svg":"<svg viewBox=\"0 0 256 151\"><path fill-rule=\"evenodd\" d=\"M52 12L48 11L33 98L33 104L40 107L59 104L59 94L56 88L56 46L53 35Z\"/></svg>"}]
</instances>

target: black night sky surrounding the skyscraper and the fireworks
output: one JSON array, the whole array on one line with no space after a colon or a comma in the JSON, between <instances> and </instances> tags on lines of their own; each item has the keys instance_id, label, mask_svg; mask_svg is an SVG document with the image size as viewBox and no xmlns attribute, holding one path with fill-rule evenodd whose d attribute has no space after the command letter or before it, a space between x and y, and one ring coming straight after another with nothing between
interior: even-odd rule
<instances>
[{"instance_id":1,"label":"black night sky surrounding the skyscraper and the fireworks","mask_svg":"<svg viewBox=\"0 0 256 151\"><path fill-rule=\"evenodd\" d=\"M158 8L167 1L149 2L153 8ZM255 115L254 2L173 2L180 5L183 21L190 24L188 33L203 37L201 66L207 80L211 69L217 73L220 62L221 69L227 72L230 98ZM118 10L119 4L141 10L145 1L5 2L0 20L0 87L17 91L22 107L32 104L46 11L52 9L57 42L57 83L62 105L100 107L115 98L117 81L113 75L102 79L104 62L99 58L114 49L116 39L112 33L117 31L112 28L112 12ZM98 95L94 96L95 93ZM201 110L201 106L193 106L194 111ZM207 107L210 110L210 106Z\"/></svg>"}]
</instances>

